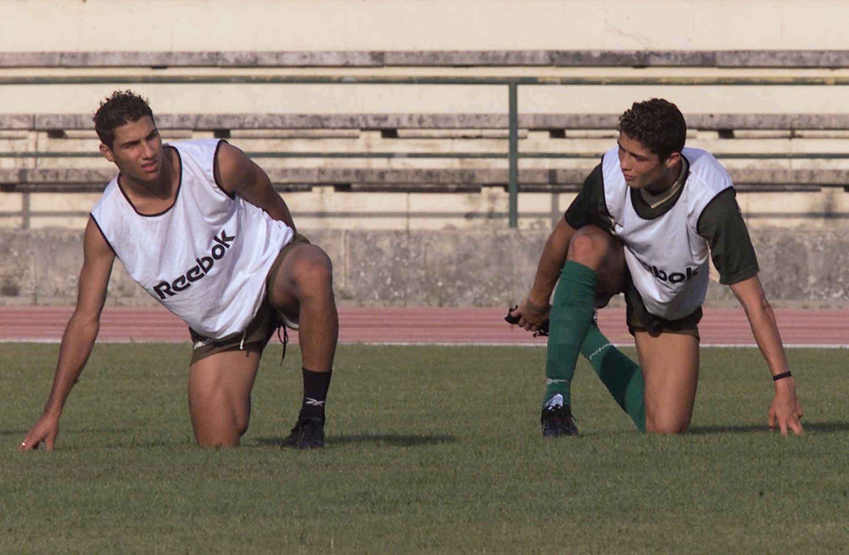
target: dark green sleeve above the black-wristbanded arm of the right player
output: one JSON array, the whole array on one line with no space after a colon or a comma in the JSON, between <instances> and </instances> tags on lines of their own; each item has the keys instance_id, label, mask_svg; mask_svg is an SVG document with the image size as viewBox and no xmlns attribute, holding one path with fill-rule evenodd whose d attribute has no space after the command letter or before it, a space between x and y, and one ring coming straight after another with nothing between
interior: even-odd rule
<instances>
[{"instance_id":1,"label":"dark green sleeve above the black-wristbanded arm of the right player","mask_svg":"<svg viewBox=\"0 0 849 555\"><path fill-rule=\"evenodd\" d=\"M708 203L696 229L711 246L711 260L719 272L719 283L733 285L757 275L755 248L751 246L733 188L725 189Z\"/></svg>"}]
</instances>

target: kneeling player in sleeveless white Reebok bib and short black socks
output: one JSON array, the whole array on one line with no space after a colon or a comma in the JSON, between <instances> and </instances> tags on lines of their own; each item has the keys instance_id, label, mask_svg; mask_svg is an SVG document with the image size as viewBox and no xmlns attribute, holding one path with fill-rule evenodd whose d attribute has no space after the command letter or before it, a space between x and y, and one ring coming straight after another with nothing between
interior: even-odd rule
<instances>
[{"instance_id":1,"label":"kneeling player in sleeveless white Reebok bib and short black socks","mask_svg":"<svg viewBox=\"0 0 849 555\"><path fill-rule=\"evenodd\" d=\"M265 171L219 140L163 145L147 101L115 92L94 115L100 152L118 166L88 219L76 309L42 417L18 448L48 450L97 338L112 264L189 326L188 408L201 446L238 446L263 348L299 327L304 397L284 446L322 447L339 320L332 268L295 232Z\"/></svg>"}]
</instances>

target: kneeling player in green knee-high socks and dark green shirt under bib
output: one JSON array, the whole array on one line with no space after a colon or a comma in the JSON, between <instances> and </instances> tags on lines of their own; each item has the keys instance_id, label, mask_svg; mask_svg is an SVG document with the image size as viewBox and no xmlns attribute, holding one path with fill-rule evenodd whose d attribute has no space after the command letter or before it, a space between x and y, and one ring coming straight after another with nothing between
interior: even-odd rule
<instances>
[{"instance_id":1,"label":"kneeling player in green knee-high socks and dark green shirt under bib","mask_svg":"<svg viewBox=\"0 0 849 555\"><path fill-rule=\"evenodd\" d=\"M543 435L577 433L570 385L579 352L639 429L687 430L708 256L720 283L730 285L743 306L772 373L770 429L778 423L782 434L801 434L796 382L728 172L710 153L684 148L687 125L666 100L633 104L621 115L619 132L616 148L604 154L554 227L531 293L512 312L531 331L550 316ZM593 323L594 307L620 292L639 366Z\"/></svg>"}]
</instances>

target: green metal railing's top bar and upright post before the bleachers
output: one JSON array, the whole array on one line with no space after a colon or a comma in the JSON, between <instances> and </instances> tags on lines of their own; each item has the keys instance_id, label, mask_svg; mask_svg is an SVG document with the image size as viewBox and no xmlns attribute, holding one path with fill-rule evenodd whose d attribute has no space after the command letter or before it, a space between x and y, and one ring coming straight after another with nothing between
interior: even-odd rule
<instances>
[{"instance_id":1,"label":"green metal railing's top bar and upright post before the bleachers","mask_svg":"<svg viewBox=\"0 0 849 555\"><path fill-rule=\"evenodd\" d=\"M509 227L518 227L519 194L519 87L520 86L684 86L684 87L835 87L849 85L849 77L456 77L456 76L0 76L0 86L27 85L100 85L100 84L146 84L146 85L497 85L508 89L508 152L509 160ZM301 153L298 153L301 154ZM333 157L338 153L318 154L316 157ZM364 153L365 154L365 153ZM384 153L385 154L385 153ZM412 153L411 153L412 154ZM397 154L398 157L437 157L433 155ZM458 153L460 154L460 153ZM446 157L461 158L500 157L503 154L481 153ZM393 156L396 154L393 154ZM754 155L752 155L754 157ZM824 155L825 156L825 155ZM306 156L305 156L306 157ZM363 156L366 157L366 156ZM567 158L569 154L534 153L523 157ZM811 157L811 155L806 155Z\"/></svg>"}]
</instances>

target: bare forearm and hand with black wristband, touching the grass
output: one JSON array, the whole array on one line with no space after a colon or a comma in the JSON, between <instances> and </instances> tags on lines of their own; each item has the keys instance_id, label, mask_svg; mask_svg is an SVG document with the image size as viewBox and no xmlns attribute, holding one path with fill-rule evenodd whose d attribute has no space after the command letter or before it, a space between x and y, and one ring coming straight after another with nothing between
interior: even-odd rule
<instances>
[{"instance_id":1,"label":"bare forearm and hand with black wristband, touching the grass","mask_svg":"<svg viewBox=\"0 0 849 555\"><path fill-rule=\"evenodd\" d=\"M751 332L769 365L770 373L773 377L789 373L790 367L784 355L784 345L781 343L775 312L769 305L761 280L753 276L734 283L731 285L731 290L734 291L743 306L746 317L749 318ZM804 432L800 421L802 411L801 404L796 398L796 381L789 376L779 378L774 384L775 395L769 407L769 428L774 429L775 423L778 423L781 434L786 435L788 429L794 434L802 434Z\"/></svg>"}]
</instances>

